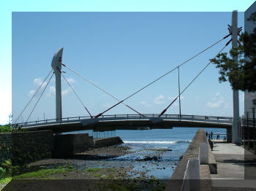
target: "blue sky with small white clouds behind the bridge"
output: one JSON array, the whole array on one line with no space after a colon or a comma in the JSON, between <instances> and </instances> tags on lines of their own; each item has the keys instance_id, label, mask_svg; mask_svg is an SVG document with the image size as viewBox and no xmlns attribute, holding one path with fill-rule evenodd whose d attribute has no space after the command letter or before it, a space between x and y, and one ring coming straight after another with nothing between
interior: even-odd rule
<instances>
[{"instance_id":1,"label":"blue sky with small white clouds behind the bridge","mask_svg":"<svg viewBox=\"0 0 256 191\"><path fill-rule=\"evenodd\" d=\"M0 7L6 8L1 12L1 18L5 19L1 20L4 28L1 36L4 38L2 37L0 47L4 63L1 64L4 71L1 75L1 89L5 94L1 98L1 105L5 104L6 111L0 115L0 124L7 121L11 110L11 78L12 113L17 116L29 100L29 93L35 90L41 78L50 71L51 59L59 47L64 47L65 64L122 99L227 34L230 12L208 11L244 11L253 3L233 1L230 6L225 1L222 7L217 7L217 2L202 4L202 1L193 1L191 4L191 1L183 1L181 7L181 3L171 1L147 1L147 6L142 6L146 1L133 4L130 1L122 1L122 4L120 1L108 1L108 4L100 1L100 6L89 1L78 1L78 4L61 1L60 8L57 3L50 7L47 1L44 2L39 5L32 1L23 4L19 1L0 3ZM244 26L243 15L238 15L239 26ZM181 68L181 89L220 48L221 46L217 46ZM189 87L181 100L182 113L232 115L230 85L219 84L218 76L217 69L211 66ZM66 77L69 77L72 87L93 114L116 103L113 98L91 87L71 72L67 71ZM177 95L177 83L177 72L174 72L132 97L127 104L139 112L159 113L170 103L170 98ZM31 120L42 119L44 112L48 118L55 117L53 89L54 82L50 82L50 88L46 90ZM87 115L65 83L63 90L64 117ZM24 120L30 110L31 107L23 114ZM120 105L107 114L113 113L132 112ZM167 113L178 113L178 106L171 106Z\"/></svg>"}]
</instances>

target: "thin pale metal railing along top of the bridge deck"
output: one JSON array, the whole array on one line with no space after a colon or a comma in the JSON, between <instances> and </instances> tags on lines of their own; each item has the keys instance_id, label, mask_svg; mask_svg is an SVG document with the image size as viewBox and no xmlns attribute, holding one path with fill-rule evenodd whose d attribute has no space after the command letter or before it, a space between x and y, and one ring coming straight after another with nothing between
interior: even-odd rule
<instances>
[{"instance_id":1,"label":"thin pale metal railing along top of the bridge deck","mask_svg":"<svg viewBox=\"0 0 256 191\"><path fill-rule=\"evenodd\" d=\"M150 117L159 117L159 114L106 114L102 115L98 119L113 119L121 120L124 118L135 118L135 119L145 119ZM217 116L203 116L203 115L188 115L188 114L163 114L161 118L165 120L181 120L181 121L198 121L198 122L217 122L217 123L232 123L233 117L217 117ZM61 119L50 119L50 120L37 120L31 122L22 122L17 124L12 124L12 126L31 126L31 125L45 125L45 124L61 124L65 122L78 122L80 120L89 120L90 116L80 116L80 117L63 117Z\"/></svg>"}]
</instances>

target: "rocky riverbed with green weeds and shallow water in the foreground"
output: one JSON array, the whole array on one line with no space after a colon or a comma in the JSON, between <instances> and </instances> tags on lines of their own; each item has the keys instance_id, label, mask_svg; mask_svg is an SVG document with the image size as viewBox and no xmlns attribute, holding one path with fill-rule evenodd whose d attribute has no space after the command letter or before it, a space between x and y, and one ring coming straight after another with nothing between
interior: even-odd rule
<instances>
[{"instance_id":1,"label":"rocky riverbed with green weeds and shallow water in the foreground","mask_svg":"<svg viewBox=\"0 0 256 191\"><path fill-rule=\"evenodd\" d=\"M173 159L172 155L174 154L171 149L135 149L123 144L89 149L69 159L40 160L29 164L21 171L21 174L61 167L69 168L69 170L61 174L49 174L49 176L44 176L44 179L66 180L70 184L75 184L73 183L75 180L79 180L76 184L85 184L89 180L94 180L95 184L90 183L92 190L94 190L93 187L99 190L107 188L116 190L116 187L124 190L131 190L131 188L132 190L155 188L163 190L178 163L178 159ZM26 177L34 180L33 176ZM12 186L18 182L13 182ZM33 187L31 181L24 182L23 180L22 184L27 185L26 187Z\"/></svg>"}]
</instances>

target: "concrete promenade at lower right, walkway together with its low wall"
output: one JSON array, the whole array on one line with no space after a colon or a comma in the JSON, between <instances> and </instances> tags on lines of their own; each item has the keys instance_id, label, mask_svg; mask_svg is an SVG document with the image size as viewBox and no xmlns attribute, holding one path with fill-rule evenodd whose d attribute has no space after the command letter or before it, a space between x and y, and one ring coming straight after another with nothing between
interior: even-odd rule
<instances>
[{"instance_id":1,"label":"concrete promenade at lower right, walkway together with its low wall","mask_svg":"<svg viewBox=\"0 0 256 191\"><path fill-rule=\"evenodd\" d=\"M223 140L212 141L214 141L214 147L211 151L205 131L203 129L197 130L173 176L167 183L166 191L256 190L255 153ZM191 169L191 167L188 167L188 161L203 159L203 153L205 152L203 152L203 149L199 149L200 144L208 144L208 162L199 162L199 177L195 176L197 174L195 164L193 170L189 171L189 178L187 178L185 176L186 171ZM200 179L200 182L197 182L197 179ZM198 183L200 189L198 189Z\"/></svg>"}]
</instances>

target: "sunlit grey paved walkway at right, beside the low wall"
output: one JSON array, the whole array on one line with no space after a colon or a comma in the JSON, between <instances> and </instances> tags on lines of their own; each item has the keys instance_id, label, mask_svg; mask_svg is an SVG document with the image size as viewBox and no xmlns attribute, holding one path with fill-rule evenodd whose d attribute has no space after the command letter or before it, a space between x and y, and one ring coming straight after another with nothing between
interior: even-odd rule
<instances>
[{"instance_id":1,"label":"sunlit grey paved walkway at right, beside the low wall","mask_svg":"<svg viewBox=\"0 0 256 191\"><path fill-rule=\"evenodd\" d=\"M256 190L256 155L231 143L215 142L218 174L211 174L214 190Z\"/></svg>"}]
</instances>

